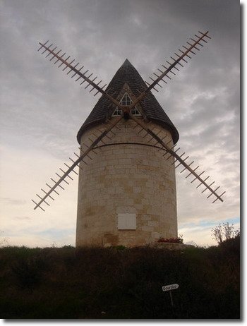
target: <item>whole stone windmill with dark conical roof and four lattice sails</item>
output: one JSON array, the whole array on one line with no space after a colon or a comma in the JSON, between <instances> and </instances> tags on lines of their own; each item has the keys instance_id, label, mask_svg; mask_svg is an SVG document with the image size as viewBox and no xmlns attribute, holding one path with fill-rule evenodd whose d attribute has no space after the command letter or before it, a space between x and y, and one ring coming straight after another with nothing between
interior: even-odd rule
<instances>
[{"instance_id":1,"label":"whole stone windmill with dark conical roof and four lattice sails","mask_svg":"<svg viewBox=\"0 0 247 326\"><path fill-rule=\"evenodd\" d=\"M219 186L205 176L195 162L177 146L179 133L151 90L162 88L210 40L208 32L191 37L183 49L144 82L126 59L112 81L100 86L84 66L66 56L53 44L39 43L42 54L59 63L67 75L80 80L85 89L101 94L99 101L78 132L80 154L59 168L52 185L46 183L34 209L49 205L64 183L79 173L76 245L141 245L160 236L177 236L175 169L187 171L186 179L212 203L223 202ZM84 68L85 69L85 68ZM88 75L88 76L87 76ZM83 86L84 86L83 85ZM107 87L106 87L107 86ZM79 171L76 171L76 167ZM204 188L203 188L204 187Z\"/></svg>"}]
</instances>

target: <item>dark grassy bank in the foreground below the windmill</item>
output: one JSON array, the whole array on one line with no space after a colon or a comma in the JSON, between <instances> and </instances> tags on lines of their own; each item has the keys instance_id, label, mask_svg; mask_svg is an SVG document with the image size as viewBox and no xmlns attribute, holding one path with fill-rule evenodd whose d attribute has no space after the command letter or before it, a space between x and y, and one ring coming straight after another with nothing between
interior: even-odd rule
<instances>
[{"instance_id":1,"label":"dark grassy bank in the foreground below the windmill","mask_svg":"<svg viewBox=\"0 0 247 326\"><path fill-rule=\"evenodd\" d=\"M0 248L0 318L239 318L239 237L210 248ZM172 291L174 306L162 286Z\"/></svg>"}]
</instances>

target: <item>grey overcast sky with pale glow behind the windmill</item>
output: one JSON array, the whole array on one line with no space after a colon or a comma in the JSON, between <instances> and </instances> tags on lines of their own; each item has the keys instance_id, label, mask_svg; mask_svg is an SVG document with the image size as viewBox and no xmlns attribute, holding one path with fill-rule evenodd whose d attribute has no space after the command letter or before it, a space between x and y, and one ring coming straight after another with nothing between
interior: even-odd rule
<instances>
[{"instance_id":1,"label":"grey overcast sky with pale glow behind the windmill","mask_svg":"<svg viewBox=\"0 0 247 326\"><path fill-rule=\"evenodd\" d=\"M212 40L154 92L179 147L226 191L224 203L177 171L179 234L215 243L239 227L239 2L236 0L1 0L1 231L10 245L75 245L77 178L45 212L32 198L78 150L99 97L37 52L49 40L105 83L128 58L146 80L198 30ZM197 166L196 165L196 166ZM76 176L76 175L75 175ZM203 188L202 188L203 190Z\"/></svg>"}]
</instances>

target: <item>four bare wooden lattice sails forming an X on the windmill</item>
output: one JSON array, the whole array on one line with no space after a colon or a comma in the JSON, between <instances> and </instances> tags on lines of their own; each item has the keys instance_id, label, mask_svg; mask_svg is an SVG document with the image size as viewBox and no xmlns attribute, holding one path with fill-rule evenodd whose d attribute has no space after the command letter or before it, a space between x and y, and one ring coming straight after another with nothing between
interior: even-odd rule
<instances>
[{"instance_id":1,"label":"four bare wooden lattice sails forming an X on the windmill","mask_svg":"<svg viewBox=\"0 0 247 326\"><path fill-rule=\"evenodd\" d=\"M172 129L173 141L169 140L169 142L166 142L166 139L164 138L160 138L159 135L155 133L154 129L149 128L142 119L139 119L137 116L131 113L138 105L143 104L145 101L148 102L150 97L153 97L152 93L150 92L151 90L158 91L157 87L162 88L162 84L167 84L168 81L176 74L176 72L179 71L180 68L183 68L183 64L186 64L188 59L191 59L196 52L199 52L200 49L203 48L203 45L207 43L207 40L210 40L208 32L198 32L198 35L195 35L193 38L191 37L190 42L186 42L186 46L183 46L182 49L175 52L170 59L165 60L161 68L158 68L157 72L153 74L154 78L150 76L150 82L145 82L147 86L140 83L138 87L135 87L135 94L132 94L131 104L128 106L123 106L121 104L119 99L116 97L116 90L112 90L111 87L107 87L105 89L107 84L104 84L101 87L100 84L102 83L102 80L97 82L97 76L92 77L92 73L89 73L89 71L85 69L83 65L80 65L79 63L76 64L75 59L71 59L71 56L66 56L66 53L63 53L61 49L58 50L53 44L48 44L49 41L44 43L40 42L40 48L38 51L42 50L42 54L46 54L49 61L57 64L59 68L61 67L67 75L71 76L71 78L76 78L76 82L80 80L80 85L85 85L85 89L89 89L89 92L95 90L94 95L97 95L100 92L104 100L104 107L107 110L112 111L117 107L122 114L118 117L118 119L114 119L112 123L108 123L107 127L104 128L103 131L99 131L97 135L95 135L95 138L93 140L91 139L90 144L80 151L80 155L74 153L74 155L76 155L75 159L70 158L72 164L69 165L64 163L66 169L59 168L60 172L59 174L56 172L56 180L51 178L53 184L50 185L49 183L46 183L46 190L42 188L42 192L44 194L37 194L37 198L39 199L38 201L32 200L35 203L35 209L39 207L40 209L44 210L41 205L43 203L49 205L48 200L54 200L54 194L59 195L59 189L64 190L64 184L68 184L68 180L72 179L71 174L77 174L75 171L76 167L83 169L83 164L90 164L90 160L92 160L90 153L97 155L97 149L111 145L111 135L114 134L114 129L117 132L118 123L121 121L121 119L132 119L139 128L138 133L140 133L143 138L147 138L147 136L149 136L150 139L148 140L147 145L156 147L157 150L164 152L163 157L166 160L168 160L170 157L174 158L171 160L171 164L174 164L176 169L181 167L181 173L183 171L188 171L186 179L192 176L193 180L191 183L198 181L196 188L204 186L205 188L203 189L202 193L207 191L207 198L210 198L211 195L213 195L214 200L212 203L215 203L217 200L223 201L222 195L225 192L219 194L219 186L212 188L212 185L215 182L209 181L209 176L204 177L205 171L200 171L198 166L194 167L195 163L188 161L188 156L185 155L185 152L179 154L179 150L181 151L180 148L175 149L176 142L179 139L179 134L177 133L176 128L173 128L173 124L171 121L169 121L169 118L165 117L164 119L164 113L161 114L161 116L163 116L161 120L167 119L168 122L164 121L164 123L171 123L169 128ZM126 61L126 64L129 64L129 61ZM100 112L100 114L101 116L98 117L98 119L101 119L103 116L102 119L105 120L106 116L103 114L103 112ZM108 116L108 118L110 118L110 116ZM148 112L146 112L145 119L148 120L149 118L152 120L152 113L148 114ZM83 126L85 126L85 123ZM82 128L78 134L82 132ZM144 131L144 133L141 133L142 131ZM88 158L90 158L89 162L87 162Z\"/></svg>"}]
</instances>

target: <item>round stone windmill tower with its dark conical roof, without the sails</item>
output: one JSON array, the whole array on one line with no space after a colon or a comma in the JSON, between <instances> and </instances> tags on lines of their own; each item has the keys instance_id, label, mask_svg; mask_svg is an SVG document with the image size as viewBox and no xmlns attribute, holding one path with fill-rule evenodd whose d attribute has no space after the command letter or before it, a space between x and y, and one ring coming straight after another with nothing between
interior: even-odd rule
<instances>
[{"instance_id":1,"label":"round stone windmill tower with its dark conical roof, without the sails","mask_svg":"<svg viewBox=\"0 0 247 326\"><path fill-rule=\"evenodd\" d=\"M109 83L109 94L128 106L145 88L138 71L126 59ZM148 92L132 112L159 137L173 145L179 133L157 99ZM121 109L102 96L78 132L78 142L90 145L99 126L121 116ZM174 164L138 133L133 119L121 119L98 155L80 170L76 243L143 245L177 236ZM111 144L111 145L109 145ZM173 157L170 158L174 160ZM97 199L96 199L97 198Z\"/></svg>"}]
</instances>

